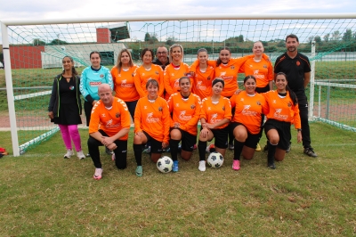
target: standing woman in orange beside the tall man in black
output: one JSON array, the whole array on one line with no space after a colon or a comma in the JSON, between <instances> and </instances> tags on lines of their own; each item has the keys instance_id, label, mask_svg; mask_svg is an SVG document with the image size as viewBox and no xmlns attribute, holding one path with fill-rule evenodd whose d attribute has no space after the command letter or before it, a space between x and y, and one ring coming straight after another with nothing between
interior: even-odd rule
<instances>
[{"instance_id":1,"label":"standing woman in orange beside the tall man in black","mask_svg":"<svg viewBox=\"0 0 356 237\"><path fill-rule=\"evenodd\" d=\"M273 67L271 61L263 58L263 44L261 41L256 41L252 47L254 53L253 58L247 59L242 65L241 70L245 72L245 76L254 75L256 78L256 93L265 93L273 89ZM263 133L264 115L261 119L260 139ZM257 143L255 151L261 151L261 146Z\"/></svg>"}]
</instances>

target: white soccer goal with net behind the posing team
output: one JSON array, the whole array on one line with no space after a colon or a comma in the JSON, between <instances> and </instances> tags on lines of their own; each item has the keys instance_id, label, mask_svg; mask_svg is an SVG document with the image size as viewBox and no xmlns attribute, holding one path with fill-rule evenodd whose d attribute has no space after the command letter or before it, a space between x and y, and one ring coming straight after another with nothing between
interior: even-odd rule
<instances>
[{"instance_id":1,"label":"white soccer goal with net behind the posing team","mask_svg":"<svg viewBox=\"0 0 356 237\"><path fill-rule=\"evenodd\" d=\"M90 66L89 53L101 52L109 69L123 48L140 53L149 47L180 44L183 61L191 64L199 48L214 60L223 46L233 57L252 53L263 42L274 63L286 52L285 37L299 37L299 52L312 62L307 88L310 119L351 129L356 127L356 15L246 15L244 17L181 16L108 20L2 22L5 73L0 73L0 110L8 111L14 155L51 137L58 127L47 116L53 78L65 55L80 73ZM187 20L179 20L187 19ZM190 20L191 19L191 20ZM239 80L243 78L239 75ZM7 93L4 91L6 86ZM7 115L6 115L7 116ZM82 118L85 122L85 118ZM85 141L85 139L83 139Z\"/></svg>"}]
</instances>

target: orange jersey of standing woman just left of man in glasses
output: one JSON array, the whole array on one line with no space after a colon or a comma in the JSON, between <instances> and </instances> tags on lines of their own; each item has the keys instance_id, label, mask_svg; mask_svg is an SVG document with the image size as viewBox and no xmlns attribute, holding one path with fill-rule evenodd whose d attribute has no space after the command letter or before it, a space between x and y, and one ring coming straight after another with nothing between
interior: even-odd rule
<instances>
[{"instance_id":1,"label":"orange jersey of standing woman just left of man in glasses","mask_svg":"<svg viewBox=\"0 0 356 237\"><path fill-rule=\"evenodd\" d=\"M136 86L137 92L140 94L140 98L147 95L146 83L149 79L155 79L158 81L158 96L162 96L165 90L163 83L163 69L153 63L150 65L150 69L145 69L141 66L134 71L134 85Z\"/></svg>"}]
</instances>

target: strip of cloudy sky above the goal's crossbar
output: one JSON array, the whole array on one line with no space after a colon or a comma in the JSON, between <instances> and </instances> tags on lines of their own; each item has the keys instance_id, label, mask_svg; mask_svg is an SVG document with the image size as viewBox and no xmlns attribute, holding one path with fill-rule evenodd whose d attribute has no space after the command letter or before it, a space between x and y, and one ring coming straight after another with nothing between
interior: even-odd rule
<instances>
[{"instance_id":1,"label":"strip of cloudy sky above the goal's crossbar","mask_svg":"<svg viewBox=\"0 0 356 237\"><path fill-rule=\"evenodd\" d=\"M354 0L227 1L227 0L3 0L0 20L77 19L171 14L346 13ZM2 39L0 37L0 44Z\"/></svg>"}]
</instances>

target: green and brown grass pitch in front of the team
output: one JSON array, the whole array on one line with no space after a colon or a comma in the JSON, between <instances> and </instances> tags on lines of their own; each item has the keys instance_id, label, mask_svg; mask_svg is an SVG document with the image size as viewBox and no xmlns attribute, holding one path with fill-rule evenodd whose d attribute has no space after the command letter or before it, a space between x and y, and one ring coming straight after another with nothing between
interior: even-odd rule
<instances>
[{"instance_id":1,"label":"green and brown grass pitch in front of the team","mask_svg":"<svg viewBox=\"0 0 356 237\"><path fill-rule=\"evenodd\" d=\"M321 123L311 129L319 158L303 155L294 133L276 170L256 152L235 172L227 151L223 168L200 172L195 151L176 174L159 173L144 156L137 177L130 141L128 167L117 170L102 155L100 181L91 159L62 159L58 133L23 156L0 159L0 235L354 236L356 134ZM8 148L9 133L0 135Z\"/></svg>"}]
</instances>

